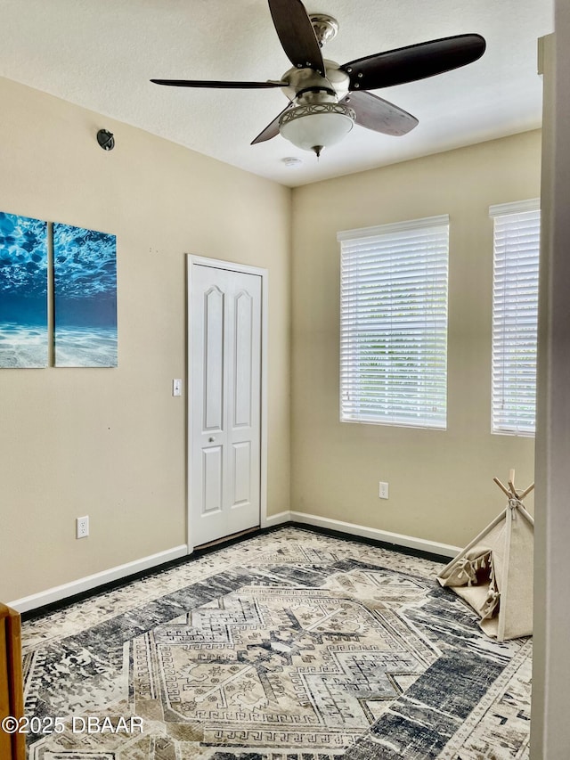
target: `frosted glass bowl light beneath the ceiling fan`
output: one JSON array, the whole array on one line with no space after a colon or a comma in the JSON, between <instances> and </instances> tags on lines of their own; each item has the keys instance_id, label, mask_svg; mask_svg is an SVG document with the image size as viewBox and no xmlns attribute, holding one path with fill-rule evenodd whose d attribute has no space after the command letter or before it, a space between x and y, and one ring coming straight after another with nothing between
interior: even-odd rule
<instances>
[{"instance_id":1,"label":"frosted glass bowl light beneath the ceiling fan","mask_svg":"<svg viewBox=\"0 0 570 760\"><path fill-rule=\"evenodd\" d=\"M283 112L281 135L303 151L319 156L323 148L340 143L354 127L352 108L336 102L306 103Z\"/></svg>"}]
</instances>

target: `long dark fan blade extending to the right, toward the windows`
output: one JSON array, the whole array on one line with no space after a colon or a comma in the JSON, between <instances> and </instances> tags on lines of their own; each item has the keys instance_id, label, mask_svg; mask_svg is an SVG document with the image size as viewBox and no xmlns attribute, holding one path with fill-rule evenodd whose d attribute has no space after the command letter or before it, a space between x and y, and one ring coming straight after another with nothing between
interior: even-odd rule
<instances>
[{"instance_id":1,"label":"long dark fan blade extending to the right, toward the windows","mask_svg":"<svg viewBox=\"0 0 570 760\"><path fill-rule=\"evenodd\" d=\"M485 39L481 35L456 35L368 55L339 68L349 75L351 90L375 90L458 69L483 53Z\"/></svg>"}]
</instances>

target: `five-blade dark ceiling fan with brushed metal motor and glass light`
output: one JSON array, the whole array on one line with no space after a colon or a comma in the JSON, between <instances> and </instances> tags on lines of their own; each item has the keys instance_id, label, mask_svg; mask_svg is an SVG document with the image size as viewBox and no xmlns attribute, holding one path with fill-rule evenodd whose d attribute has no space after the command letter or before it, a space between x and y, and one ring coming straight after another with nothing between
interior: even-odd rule
<instances>
[{"instance_id":1,"label":"five-blade dark ceiling fan with brushed metal motor and glass light","mask_svg":"<svg viewBox=\"0 0 570 760\"><path fill-rule=\"evenodd\" d=\"M263 89L281 87L289 104L252 145L276 135L317 156L338 143L354 123L385 135L406 135L418 125L407 111L371 94L379 87L403 85L457 69L485 53L478 34L443 37L375 53L338 65L322 58L321 48L336 36L338 22L324 13L309 15L301 0L268 0L273 24L293 67L281 79L224 82L203 79L151 79L175 87Z\"/></svg>"}]
</instances>

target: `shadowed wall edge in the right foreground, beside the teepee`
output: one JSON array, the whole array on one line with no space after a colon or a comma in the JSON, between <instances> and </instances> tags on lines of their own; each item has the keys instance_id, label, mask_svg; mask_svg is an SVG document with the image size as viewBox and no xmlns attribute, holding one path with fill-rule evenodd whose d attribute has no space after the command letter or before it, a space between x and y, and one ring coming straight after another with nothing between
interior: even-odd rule
<instances>
[{"instance_id":1,"label":"shadowed wall edge in the right foreground, beside the teepee","mask_svg":"<svg viewBox=\"0 0 570 760\"><path fill-rule=\"evenodd\" d=\"M570 681L570 4L544 42L542 297L539 317L531 760L567 760Z\"/></svg>"}]
</instances>

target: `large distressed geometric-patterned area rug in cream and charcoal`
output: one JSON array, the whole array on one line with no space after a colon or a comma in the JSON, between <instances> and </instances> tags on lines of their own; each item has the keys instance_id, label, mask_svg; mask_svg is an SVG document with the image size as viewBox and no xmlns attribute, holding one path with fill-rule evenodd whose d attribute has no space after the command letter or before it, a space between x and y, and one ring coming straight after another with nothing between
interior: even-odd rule
<instances>
[{"instance_id":1,"label":"large distressed geometric-patterned area rug in cream and charcoal","mask_svg":"<svg viewBox=\"0 0 570 760\"><path fill-rule=\"evenodd\" d=\"M28 621L28 758L526 758L531 640L441 567L284 527Z\"/></svg>"}]
</instances>

